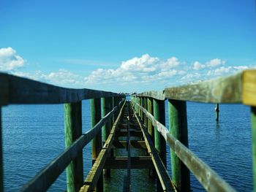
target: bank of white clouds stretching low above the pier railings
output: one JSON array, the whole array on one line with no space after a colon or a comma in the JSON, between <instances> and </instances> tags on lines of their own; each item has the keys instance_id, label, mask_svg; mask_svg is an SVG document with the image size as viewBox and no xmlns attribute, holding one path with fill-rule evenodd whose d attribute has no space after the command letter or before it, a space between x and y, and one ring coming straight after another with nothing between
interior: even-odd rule
<instances>
[{"instance_id":1,"label":"bank of white clouds stretching low above the pier railings","mask_svg":"<svg viewBox=\"0 0 256 192\"><path fill-rule=\"evenodd\" d=\"M249 66L231 66L220 58L209 61L180 61L175 56L162 59L148 54L122 61L118 67L99 68L88 76L76 74L67 69L56 72L22 72L25 61L11 47L0 49L0 71L20 77L48 82L70 88L95 88L102 90L132 91L162 90L165 87L183 85L190 82L209 80L232 74Z\"/></svg>"}]
</instances>

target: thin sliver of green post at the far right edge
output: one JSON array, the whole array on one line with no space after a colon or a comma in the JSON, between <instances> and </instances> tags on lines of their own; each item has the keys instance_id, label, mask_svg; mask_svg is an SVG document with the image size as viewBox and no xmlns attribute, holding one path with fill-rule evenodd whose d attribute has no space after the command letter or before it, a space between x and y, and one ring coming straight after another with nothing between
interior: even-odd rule
<instances>
[{"instance_id":1,"label":"thin sliver of green post at the far right edge","mask_svg":"<svg viewBox=\"0 0 256 192\"><path fill-rule=\"evenodd\" d=\"M251 107L252 121L252 173L253 189L256 191L256 107Z\"/></svg>"}]
</instances>

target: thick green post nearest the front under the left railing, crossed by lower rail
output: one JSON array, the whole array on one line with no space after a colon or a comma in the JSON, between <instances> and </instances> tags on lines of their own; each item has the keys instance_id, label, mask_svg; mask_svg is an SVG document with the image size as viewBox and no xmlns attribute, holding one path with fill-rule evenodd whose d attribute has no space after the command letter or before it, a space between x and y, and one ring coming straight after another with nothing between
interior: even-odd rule
<instances>
[{"instance_id":1,"label":"thick green post nearest the front under the left railing, crossed by lower rail","mask_svg":"<svg viewBox=\"0 0 256 192\"><path fill-rule=\"evenodd\" d=\"M82 134L82 102L64 104L65 147L68 148ZM83 153L67 166L67 191L79 191L83 185Z\"/></svg>"}]
</instances>

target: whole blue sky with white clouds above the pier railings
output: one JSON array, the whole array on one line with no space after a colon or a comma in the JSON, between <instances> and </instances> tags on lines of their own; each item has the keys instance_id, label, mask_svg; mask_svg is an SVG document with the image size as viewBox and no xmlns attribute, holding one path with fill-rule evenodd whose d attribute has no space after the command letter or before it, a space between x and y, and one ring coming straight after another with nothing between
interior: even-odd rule
<instances>
[{"instance_id":1,"label":"whole blue sky with white clouds above the pier railings","mask_svg":"<svg viewBox=\"0 0 256 192\"><path fill-rule=\"evenodd\" d=\"M0 1L0 70L148 91L256 66L255 1Z\"/></svg>"}]
</instances>

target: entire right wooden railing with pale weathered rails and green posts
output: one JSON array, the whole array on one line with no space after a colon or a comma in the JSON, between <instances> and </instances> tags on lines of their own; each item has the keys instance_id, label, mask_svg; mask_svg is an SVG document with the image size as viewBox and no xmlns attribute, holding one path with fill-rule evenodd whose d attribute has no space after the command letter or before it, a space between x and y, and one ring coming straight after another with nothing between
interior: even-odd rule
<instances>
[{"instance_id":1,"label":"entire right wooden railing with pale weathered rails and green posts","mask_svg":"<svg viewBox=\"0 0 256 192\"><path fill-rule=\"evenodd\" d=\"M169 130L165 127L165 99L168 99ZM189 171L195 174L206 191L235 191L187 148L186 101L242 103L251 106L252 163L256 191L256 70L246 70L229 77L176 88L165 88L164 91L132 95L135 111L148 128L163 162L166 162L166 142L172 149L172 180L178 191L190 191Z\"/></svg>"}]
</instances>

